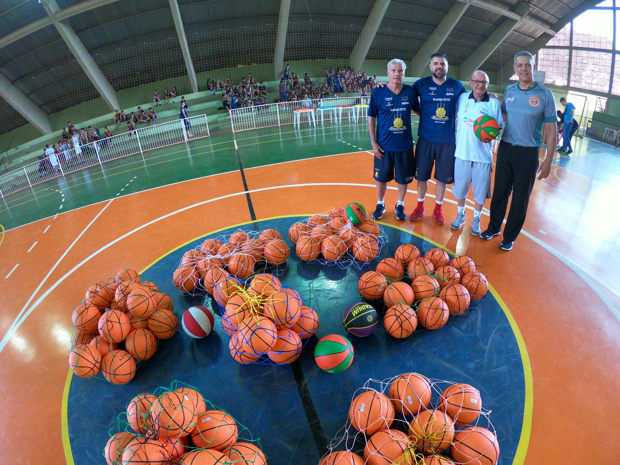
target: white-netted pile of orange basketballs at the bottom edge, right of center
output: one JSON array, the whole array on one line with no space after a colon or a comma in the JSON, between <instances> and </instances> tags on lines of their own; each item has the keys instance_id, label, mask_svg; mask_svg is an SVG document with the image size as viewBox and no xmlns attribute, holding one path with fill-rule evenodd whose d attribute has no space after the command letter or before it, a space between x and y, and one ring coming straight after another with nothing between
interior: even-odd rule
<instances>
[{"instance_id":1,"label":"white-netted pile of orange basketballs at the bottom edge, right of center","mask_svg":"<svg viewBox=\"0 0 620 465\"><path fill-rule=\"evenodd\" d=\"M482 404L469 384L419 373L369 379L319 465L495 465L497 432Z\"/></svg>"}]
</instances>

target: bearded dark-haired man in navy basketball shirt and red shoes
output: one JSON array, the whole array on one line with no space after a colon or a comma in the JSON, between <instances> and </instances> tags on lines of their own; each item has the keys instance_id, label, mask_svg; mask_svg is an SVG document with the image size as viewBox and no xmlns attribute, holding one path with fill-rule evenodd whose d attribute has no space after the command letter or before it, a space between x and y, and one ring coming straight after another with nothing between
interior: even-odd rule
<instances>
[{"instance_id":1,"label":"bearded dark-haired man in navy basketball shirt and red shoes","mask_svg":"<svg viewBox=\"0 0 620 465\"><path fill-rule=\"evenodd\" d=\"M424 196L435 165L435 210L433 218L443 224L441 204L446 185L454 182L456 150L456 102L465 92L460 81L448 78L448 57L433 53L428 63L432 76L414 83L414 112L420 115L418 141L415 146L415 179L418 181L418 205L409 217L417 221L424 215Z\"/></svg>"}]
</instances>

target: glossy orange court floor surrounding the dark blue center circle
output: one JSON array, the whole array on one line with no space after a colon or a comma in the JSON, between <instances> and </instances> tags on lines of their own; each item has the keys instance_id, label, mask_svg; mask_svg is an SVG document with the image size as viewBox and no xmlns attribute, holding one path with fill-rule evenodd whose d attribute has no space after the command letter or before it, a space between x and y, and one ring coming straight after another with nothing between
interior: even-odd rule
<instances>
[{"instance_id":1,"label":"glossy orange court floor surrounding the dark blue center circle","mask_svg":"<svg viewBox=\"0 0 620 465\"><path fill-rule=\"evenodd\" d=\"M368 151L325 153L246 168L245 179L233 170L140 190L7 231L0 246L0 395L5 399L0 463L78 463L67 423L68 352L71 311L89 285L122 267L144 270L199 237L252 222L252 213L257 221L308 216L350 201L372 210L371 164ZM521 433L510 463L620 463L617 179L596 180L557 159L549 178L536 182L511 252L498 248L502 236L486 242L470 234L471 200L466 226L452 230L456 201L450 192L443 207L446 224L437 226L430 215L434 184L427 215L416 223L397 221L396 185L390 184L381 223L484 265L512 319L525 401L520 424L514 425ZM415 202L411 184L407 214ZM489 201L482 229L488 208ZM459 343L458 338L446 342L456 351ZM115 395L115 387L105 387L108 395ZM93 418L93 428L100 423ZM105 463L99 457L97 463Z\"/></svg>"}]
</instances>

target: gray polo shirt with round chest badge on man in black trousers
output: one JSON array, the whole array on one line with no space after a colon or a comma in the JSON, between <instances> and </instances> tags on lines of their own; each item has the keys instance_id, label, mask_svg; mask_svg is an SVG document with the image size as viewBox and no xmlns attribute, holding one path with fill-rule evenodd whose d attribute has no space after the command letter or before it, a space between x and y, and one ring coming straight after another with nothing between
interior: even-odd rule
<instances>
[{"instance_id":1,"label":"gray polo shirt with round chest badge on man in black trousers","mask_svg":"<svg viewBox=\"0 0 620 465\"><path fill-rule=\"evenodd\" d=\"M502 113L508 115L502 140L523 147L540 147L542 125L557 122L556 99L539 82L527 91L519 83L504 92Z\"/></svg>"}]
</instances>

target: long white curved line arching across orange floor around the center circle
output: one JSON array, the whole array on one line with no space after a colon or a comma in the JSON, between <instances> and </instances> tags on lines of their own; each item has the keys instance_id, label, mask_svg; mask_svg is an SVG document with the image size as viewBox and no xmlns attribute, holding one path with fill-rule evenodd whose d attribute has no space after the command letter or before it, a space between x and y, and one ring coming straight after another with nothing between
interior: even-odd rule
<instances>
[{"instance_id":1,"label":"long white curved line arching across orange floor around the center circle","mask_svg":"<svg viewBox=\"0 0 620 465\"><path fill-rule=\"evenodd\" d=\"M209 200L203 200L201 202L194 203L193 205L188 205L188 206L185 206L184 208L180 208L179 210L175 210L175 211L172 211L170 213L167 213L166 215L160 216L159 218L153 219L153 220L149 221L148 223L144 223L141 226L138 226L138 228L135 228L135 229L132 229L129 232L126 232L125 234L123 234L123 236L120 236L117 239L114 239L112 242L109 242L104 247L101 247L99 250L93 252L91 255L86 257L86 259L84 259L81 262L79 262L76 266L71 268L71 270L69 270L67 273L65 273L65 275L63 277L61 277L58 281L56 281L47 291L45 291L45 293L43 293L42 296L40 296L37 299L37 301L35 301L34 304L32 304L32 306L28 309L28 311L26 311L24 313L25 308L28 306L30 301L32 301L33 296L37 293L37 291L38 291L38 289L37 289L37 291L35 291L35 294L33 294L33 296L30 298L29 302L26 303L26 305L24 306L24 309L22 309L20 314L15 318L15 321L13 322L13 324L11 324L11 327L7 331L7 334L4 335L4 337L0 341L0 352L2 352L4 347L6 347L7 343L9 342L9 339L11 339L11 335L17 329L19 329L19 327L24 323L24 321L27 319L27 317L37 308L37 306L40 303L42 303L43 299L45 299L51 293L51 291L55 290L59 285L61 285L61 283L63 283L63 281L66 280L66 278L68 278L71 274L73 274L76 270L78 270L78 268L80 268L82 265L84 265L84 263L88 262L93 257L96 257L97 255L99 255L101 252L103 252L104 250L108 249L109 247L112 247L117 242L122 241L123 239L125 239L125 237L131 236L131 234L133 234L135 232L138 232L141 229L146 228L147 226L151 226L151 224L157 223L158 221L161 221L162 219L170 218L170 216L177 215L177 213L182 213L183 211L190 210L190 209L195 208L197 206L206 205L207 203L211 203L213 201L223 200L224 198L236 197L237 195L246 195L246 193L263 192L265 190L284 189L284 188L290 188L290 187L314 187L314 186L326 186L326 185L331 185L331 186L352 186L352 187L371 187L371 188L375 188L376 187L376 185L374 185L374 184L360 184L360 183L353 183L353 182L316 182L316 183L313 182L313 183L306 183L306 184L291 184L291 185L279 185L279 186L272 186L272 187L262 187L262 188L259 188L259 189L244 190L242 192L235 192L235 193L231 193L231 194L227 194L227 195L222 195L221 197L211 198ZM390 190L397 190L396 187L388 186L387 188L390 189ZM407 192L412 192L413 193L415 191L408 190ZM434 195L430 195L430 194L427 194L427 195L429 197L435 197ZM448 201L449 203L456 203L456 201L451 200L451 199L444 199L444 200ZM111 202L112 202L112 200L110 200L107 203L107 205L105 205L104 209L99 212L99 215L101 213L103 213L105 208L107 208L107 206L110 205ZM472 206L469 206L469 205L466 205L466 208L469 208L470 210L474 210L474 208ZM95 216L95 218L91 221L89 226L91 226L91 224L95 221L95 219L97 219L97 217L99 215ZM488 216L488 213L485 213L485 215ZM505 221L506 220L504 220L504 223L505 223ZM86 228L88 228L89 226L87 226ZM82 231L82 234L85 231L86 231L86 229L84 229L84 231ZM575 263L573 263L569 259L567 259L567 257L564 257L564 255L562 255L559 252L557 252L557 250L552 249L552 247L547 246L547 244L544 244L544 242L542 242L539 239L536 239L535 237L531 236L531 234L529 234L528 232L525 232L525 231L521 230L521 233L524 234L526 237L529 237L530 239L533 239L534 242L536 242L537 244L541 245L545 249L549 250L549 252L551 252L553 255L556 255L556 257L558 257L560 260L562 260L562 262L566 263L573 271L575 271L575 273L577 273L577 275L580 278L583 279L583 281L585 281L585 283L587 283L588 286L590 286L590 288L592 288L593 291L595 291L595 293L598 296L601 297L601 299L603 299L604 303L608 306L608 308L611 310L613 315L618 319L618 321L620 321L620 312L618 312L618 310L614 307L613 303L611 303L611 301L609 301L609 299L606 298L606 296L601 292L601 290L598 289L598 287L596 287L595 283L593 283L593 281L591 281L590 279L588 279L585 276L585 273L587 273L587 272L585 272L584 270L579 268ZM80 234L80 236L82 234ZM78 239L79 239L80 236L78 236ZM76 239L76 241L78 239ZM75 244L76 241L74 241L74 244ZM71 244L71 246L73 246L73 244ZM68 252L68 250L67 250L67 252ZM67 252L65 252L65 254L63 254L63 257L64 257L64 255L66 255ZM61 257L61 259L63 257ZM60 260L58 261L58 263L60 263ZM56 263L56 264L58 264L58 263ZM50 273L48 273L48 277L49 277L50 274L51 274L51 271L50 271ZM45 279L47 280L47 277ZM45 282L45 280L43 282ZM41 285L43 285L43 282L41 283Z\"/></svg>"}]
</instances>

